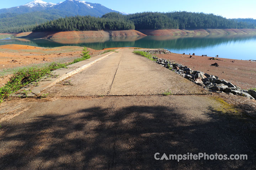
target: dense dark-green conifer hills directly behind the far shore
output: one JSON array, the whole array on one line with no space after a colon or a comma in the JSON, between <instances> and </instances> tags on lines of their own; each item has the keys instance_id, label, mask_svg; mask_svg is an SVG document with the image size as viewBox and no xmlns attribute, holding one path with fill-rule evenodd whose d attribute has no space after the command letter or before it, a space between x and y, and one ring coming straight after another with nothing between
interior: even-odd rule
<instances>
[{"instance_id":1,"label":"dense dark-green conifer hills directly behind the far shore","mask_svg":"<svg viewBox=\"0 0 256 170\"><path fill-rule=\"evenodd\" d=\"M101 18L76 16L40 24L39 31L128 30L128 29L241 29L255 28L253 24L237 22L221 16L194 12L143 12L130 15L111 12Z\"/></svg>"}]
</instances>

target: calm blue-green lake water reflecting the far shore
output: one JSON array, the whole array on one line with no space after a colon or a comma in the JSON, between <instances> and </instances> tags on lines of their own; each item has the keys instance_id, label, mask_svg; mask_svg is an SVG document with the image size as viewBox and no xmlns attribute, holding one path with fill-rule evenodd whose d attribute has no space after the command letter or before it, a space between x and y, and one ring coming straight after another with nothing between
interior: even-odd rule
<instances>
[{"instance_id":1,"label":"calm blue-green lake water reflecting the far shore","mask_svg":"<svg viewBox=\"0 0 256 170\"><path fill-rule=\"evenodd\" d=\"M145 36L127 38L94 38L69 40L1 40L0 45L22 44L39 47L86 46L101 50L110 47L164 48L174 53L195 53L210 57L238 60L256 60L256 35L208 35L208 36Z\"/></svg>"}]
</instances>

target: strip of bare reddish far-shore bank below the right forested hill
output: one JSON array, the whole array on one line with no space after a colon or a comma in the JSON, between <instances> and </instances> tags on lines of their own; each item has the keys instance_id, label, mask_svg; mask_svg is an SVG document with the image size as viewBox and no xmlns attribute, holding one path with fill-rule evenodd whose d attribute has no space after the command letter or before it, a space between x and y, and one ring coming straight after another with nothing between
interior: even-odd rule
<instances>
[{"instance_id":1,"label":"strip of bare reddish far-shore bank below the right forested hill","mask_svg":"<svg viewBox=\"0 0 256 170\"><path fill-rule=\"evenodd\" d=\"M160 30L139 30L151 36L165 35L209 35L209 34L256 34L256 29L160 29Z\"/></svg>"}]
</instances>

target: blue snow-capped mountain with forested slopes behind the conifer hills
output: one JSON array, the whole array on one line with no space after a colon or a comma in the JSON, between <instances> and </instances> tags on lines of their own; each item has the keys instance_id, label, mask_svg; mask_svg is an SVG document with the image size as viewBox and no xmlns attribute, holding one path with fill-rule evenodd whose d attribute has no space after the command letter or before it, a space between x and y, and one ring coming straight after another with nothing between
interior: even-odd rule
<instances>
[{"instance_id":1,"label":"blue snow-capped mountain with forested slopes behind the conifer hills","mask_svg":"<svg viewBox=\"0 0 256 170\"><path fill-rule=\"evenodd\" d=\"M83 0L65 0L53 4L43 0L34 0L25 5L0 9L0 31L1 29L12 29L34 26L35 24L47 22L65 16L94 16L101 17L109 12L118 12L101 4L86 2ZM126 13L122 13L126 15ZM10 23L11 21L11 23ZM7 27L8 26L8 27ZM11 26L11 28L9 27Z\"/></svg>"}]
</instances>

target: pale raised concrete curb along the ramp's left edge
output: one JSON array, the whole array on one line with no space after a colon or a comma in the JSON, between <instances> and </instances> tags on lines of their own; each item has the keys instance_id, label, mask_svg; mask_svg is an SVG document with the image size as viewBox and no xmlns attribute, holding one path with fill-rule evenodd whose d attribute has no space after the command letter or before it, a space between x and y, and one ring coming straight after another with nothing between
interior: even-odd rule
<instances>
[{"instance_id":1,"label":"pale raised concrete curb along the ramp's left edge","mask_svg":"<svg viewBox=\"0 0 256 170\"><path fill-rule=\"evenodd\" d=\"M120 49L117 49L115 51L118 51L118 50L120 50ZM43 78L41 78L39 80L39 84L37 86L34 86L34 82L32 82L32 83L28 84L27 86L22 87L16 93L14 93L14 94L12 94L10 96L11 97L35 97L41 91L43 91L43 90L47 89L48 87L51 87L51 86L59 83L60 81L70 77L71 75L74 75L76 73L81 72L82 70L84 70L85 68L91 66L92 64L102 60L103 58L105 58L107 56L110 56L115 51L108 52L108 53L106 53L106 55L104 55L104 56L102 56L100 58L97 58L96 60L91 61L91 62L89 62L87 64L84 64L82 66L76 66L76 65L79 65L79 63L82 63L83 61L71 64L66 69L60 68L60 69L57 69L57 70L53 70L52 71L53 75L58 75L58 72L60 72L62 75L58 75L58 77L56 77L56 78L51 78L50 80L47 80L48 83L44 83L45 81L42 81L42 80L46 80L47 79L47 77L43 77ZM76 67L75 69L73 69L74 66ZM27 91L27 93L25 94L23 91Z\"/></svg>"}]
</instances>

